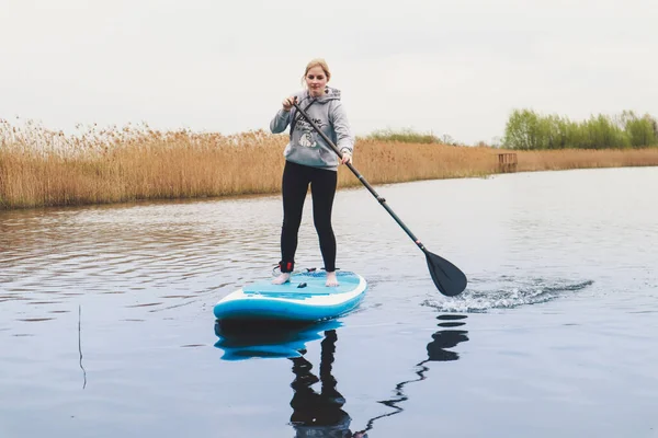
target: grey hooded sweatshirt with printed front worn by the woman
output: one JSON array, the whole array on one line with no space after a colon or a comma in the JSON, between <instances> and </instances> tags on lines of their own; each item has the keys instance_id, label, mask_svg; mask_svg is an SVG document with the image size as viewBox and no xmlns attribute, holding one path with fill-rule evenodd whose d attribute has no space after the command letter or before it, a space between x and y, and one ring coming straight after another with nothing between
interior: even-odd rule
<instances>
[{"instance_id":1,"label":"grey hooded sweatshirt with printed front worn by the woman","mask_svg":"<svg viewBox=\"0 0 658 438\"><path fill-rule=\"evenodd\" d=\"M338 149L351 154L354 149L354 137L340 101L340 91L328 87L326 93L315 100L306 90L294 95L297 97L299 106L306 111ZM270 130L273 134L280 134L288 125L294 125L294 129L292 129L291 140L283 152L286 160L314 168L338 170L338 154L302 114L297 114L297 108L293 107L290 112L283 111L283 108L279 110L270 123Z\"/></svg>"}]
</instances>

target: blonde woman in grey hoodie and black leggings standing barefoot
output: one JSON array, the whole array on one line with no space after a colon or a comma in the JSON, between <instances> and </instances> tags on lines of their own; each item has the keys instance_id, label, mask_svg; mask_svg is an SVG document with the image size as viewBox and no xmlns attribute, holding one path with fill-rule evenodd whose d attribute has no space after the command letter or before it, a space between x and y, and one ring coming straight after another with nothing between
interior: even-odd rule
<instances>
[{"instance_id":1,"label":"blonde woman in grey hoodie and black leggings standing barefoot","mask_svg":"<svg viewBox=\"0 0 658 438\"><path fill-rule=\"evenodd\" d=\"M314 59L306 66L306 90L283 100L272 122L273 134L283 132L291 126L290 142L285 148L285 168L282 178L283 226L281 229L281 275L274 284L290 280L295 266L297 233L302 223L304 200L310 184L313 217L320 241L320 252L327 272L327 286L338 286L336 278L336 237L331 228L331 208L338 182L338 165L352 162L354 136L343 105L340 91L327 87L331 78L324 59ZM313 126L297 114L293 102L308 114L313 122L331 139L343 158L326 145Z\"/></svg>"}]
</instances>

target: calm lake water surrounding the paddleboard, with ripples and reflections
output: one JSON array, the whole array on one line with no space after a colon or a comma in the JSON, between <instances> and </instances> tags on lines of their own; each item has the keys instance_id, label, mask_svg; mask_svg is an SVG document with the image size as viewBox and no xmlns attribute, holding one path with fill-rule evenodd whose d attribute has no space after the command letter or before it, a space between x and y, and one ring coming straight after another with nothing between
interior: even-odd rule
<instances>
[{"instance_id":1,"label":"calm lake water surrounding the paddleboard, with ripples and reflections","mask_svg":"<svg viewBox=\"0 0 658 438\"><path fill-rule=\"evenodd\" d=\"M367 177L367 175L366 175ZM0 212L0 437L658 437L658 169L339 192L358 311L231 341L279 196ZM307 200L298 267L321 267ZM250 357L250 343L297 357ZM239 360L238 360L239 359Z\"/></svg>"}]
</instances>

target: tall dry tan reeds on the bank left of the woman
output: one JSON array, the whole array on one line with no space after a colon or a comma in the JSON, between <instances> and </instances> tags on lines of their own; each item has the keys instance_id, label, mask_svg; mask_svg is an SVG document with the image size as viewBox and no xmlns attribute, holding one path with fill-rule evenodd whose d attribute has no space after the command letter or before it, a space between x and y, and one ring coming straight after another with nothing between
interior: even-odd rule
<instances>
[{"instance_id":1,"label":"tall dry tan reeds on the bank left of the woman","mask_svg":"<svg viewBox=\"0 0 658 438\"><path fill-rule=\"evenodd\" d=\"M284 139L143 127L65 136L0 123L3 208L271 193Z\"/></svg>"}]
</instances>

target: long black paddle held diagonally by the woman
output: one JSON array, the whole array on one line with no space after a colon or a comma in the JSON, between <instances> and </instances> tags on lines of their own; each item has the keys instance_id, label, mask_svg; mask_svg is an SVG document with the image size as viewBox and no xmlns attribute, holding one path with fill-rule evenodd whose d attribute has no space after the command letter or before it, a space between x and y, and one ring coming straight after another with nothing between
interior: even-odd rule
<instances>
[{"instance_id":1,"label":"long black paddle held diagonally by the woman","mask_svg":"<svg viewBox=\"0 0 658 438\"><path fill-rule=\"evenodd\" d=\"M308 114L299 107L296 101L293 102L293 105L295 105L295 108L297 108L299 114L302 114L302 116L310 124L310 126L313 126L313 128L320 135L320 137L322 137L325 142L329 145L331 149L333 149L333 152L336 152L338 157L340 157L340 159L342 160L342 153L340 152L338 147L333 145L333 142L325 135L325 132L320 130L320 128L308 116ZM409 235L409 238L411 238L413 243L416 243L418 247L424 253L428 262L428 267L430 269L430 275L432 276L432 280L434 281L434 285L436 285L439 291L447 297L454 297L456 295L462 293L462 291L464 291L464 289L466 288L467 284L467 279L464 273L445 258L429 252L424 247L424 245L420 243L420 240L418 240L416 235L413 235L413 233L407 228L407 226L405 226L400 218L398 218L397 215L390 209L390 207L388 207L388 205L386 204L386 199L381 197L377 194L377 192L375 192L375 189L367 183L367 181L365 181L365 178L359 173L359 171L356 171L356 169L354 169L354 166L351 163L347 163L345 165L352 171L352 173L354 173L354 175L359 178L359 181L361 181L365 188L367 188L368 192L379 201L382 207L384 207L386 211L388 211L388 214L402 228L402 230L405 230L405 232Z\"/></svg>"}]
</instances>

